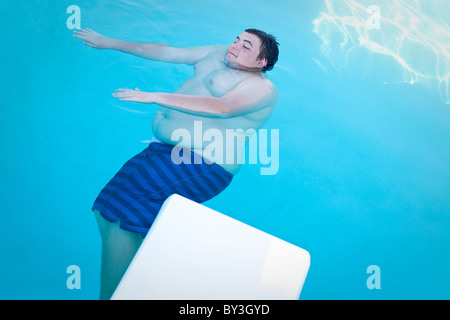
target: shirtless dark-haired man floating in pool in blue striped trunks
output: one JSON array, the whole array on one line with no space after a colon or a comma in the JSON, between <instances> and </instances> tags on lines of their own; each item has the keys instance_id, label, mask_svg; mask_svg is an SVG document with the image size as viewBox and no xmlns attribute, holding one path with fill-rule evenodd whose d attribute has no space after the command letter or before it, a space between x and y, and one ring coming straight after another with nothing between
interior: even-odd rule
<instances>
[{"instance_id":1,"label":"shirtless dark-haired man floating in pool in blue striped trunks","mask_svg":"<svg viewBox=\"0 0 450 320\"><path fill-rule=\"evenodd\" d=\"M239 171L242 162L235 155L242 154L242 141L262 127L277 102L276 88L265 72L278 60L278 43L257 29L245 30L228 47L190 48L116 40L88 28L74 33L92 48L194 67L194 76L175 93L118 89L113 94L158 107L153 133L159 141L127 161L93 205L102 236L100 298L109 299L164 200L177 193L204 202L222 192ZM222 137L231 129L234 137L213 141L220 135L208 138L200 133L199 139L199 124L202 132L213 129ZM180 139L183 132L194 138ZM213 152L207 150L212 141ZM233 154L226 154L230 150Z\"/></svg>"}]
</instances>

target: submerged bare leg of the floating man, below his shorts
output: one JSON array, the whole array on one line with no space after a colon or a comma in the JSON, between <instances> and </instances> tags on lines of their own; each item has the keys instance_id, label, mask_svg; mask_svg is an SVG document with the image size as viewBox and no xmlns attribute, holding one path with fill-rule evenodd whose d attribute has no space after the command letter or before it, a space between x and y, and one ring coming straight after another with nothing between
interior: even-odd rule
<instances>
[{"instance_id":1,"label":"submerged bare leg of the floating man, below his shorts","mask_svg":"<svg viewBox=\"0 0 450 320\"><path fill-rule=\"evenodd\" d=\"M110 299L123 274L142 243L140 234L123 230L119 221L104 219L94 211L102 237L102 267L100 299Z\"/></svg>"}]
</instances>

